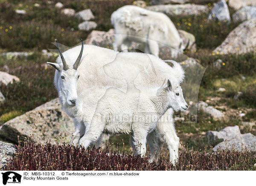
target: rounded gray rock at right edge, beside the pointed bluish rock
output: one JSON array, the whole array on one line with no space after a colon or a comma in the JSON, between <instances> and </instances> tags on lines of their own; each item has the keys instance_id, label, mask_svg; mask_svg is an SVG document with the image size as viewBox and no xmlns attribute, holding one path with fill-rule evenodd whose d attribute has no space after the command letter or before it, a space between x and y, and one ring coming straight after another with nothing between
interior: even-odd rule
<instances>
[{"instance_id":1,"label":"rounded gray rock at right edge, beside the pointed bluish rock","mask_svg":"<svg viewBox=\"0 0 256 186\"><path fill-rule=\"evenodd\" d=\"M256 6L244 6L232 15L234 22L256 18Z\"/></svg>"}]
</instances>

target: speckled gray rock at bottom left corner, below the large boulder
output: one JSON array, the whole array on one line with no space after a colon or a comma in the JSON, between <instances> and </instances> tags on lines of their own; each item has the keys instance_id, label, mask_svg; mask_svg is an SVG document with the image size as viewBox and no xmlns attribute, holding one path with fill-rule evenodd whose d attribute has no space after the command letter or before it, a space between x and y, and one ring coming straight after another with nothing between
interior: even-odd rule
<instances>
[{"instance_id":1,"label":"speckled gray rock at bottom left corner, below the large boulder","mask_svg":"<svg viewBox=\"0 0 256 186\"><path fill-rule=\"evenodd\" d=\"M7 160L16 152L15 145L0 141L0 170L6 165Z\"/></svg>"}]
</instances>

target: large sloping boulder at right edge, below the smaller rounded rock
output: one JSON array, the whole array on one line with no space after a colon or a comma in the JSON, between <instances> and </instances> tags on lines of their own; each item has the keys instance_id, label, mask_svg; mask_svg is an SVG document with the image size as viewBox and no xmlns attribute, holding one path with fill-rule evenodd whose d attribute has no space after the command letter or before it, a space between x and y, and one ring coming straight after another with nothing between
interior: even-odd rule
<instances>
[{"instance_id":1,"label":"large sloping boulder at right edge, below the smaller rounded rock","mask_svg":"<svg viewBox=\"0 0 256 186\"><path fill-rule=\"evenodd\" d=\"M213 52L242 54L256 49L256 18L247 20L233 29Z\"/></svg>"}]
</instances>

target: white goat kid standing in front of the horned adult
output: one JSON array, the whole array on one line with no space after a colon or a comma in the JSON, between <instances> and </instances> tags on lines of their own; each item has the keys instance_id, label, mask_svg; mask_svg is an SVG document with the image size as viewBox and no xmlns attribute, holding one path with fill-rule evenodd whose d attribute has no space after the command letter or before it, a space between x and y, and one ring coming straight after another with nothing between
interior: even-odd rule
<instances>
[{"instance_id":1,"label":"white goat kid standing in front of the horned adult","mask_svg":"<svg viewBox=\"0 0 256 186\"><path fill-rule=\"evenodd\" d=\"M97 98L99 102L95 102ZM134 153L145 155L147 135L154 130L160 117L169 108L186 110L186 105L181 87L172 86L169 80L167 87L160 89L134 88L126 93L116 88L85 90L76 104L76 119L86 128L79 144L87 148L100 140L103 132L131 134Z\"/></svg>"}]
</instances>

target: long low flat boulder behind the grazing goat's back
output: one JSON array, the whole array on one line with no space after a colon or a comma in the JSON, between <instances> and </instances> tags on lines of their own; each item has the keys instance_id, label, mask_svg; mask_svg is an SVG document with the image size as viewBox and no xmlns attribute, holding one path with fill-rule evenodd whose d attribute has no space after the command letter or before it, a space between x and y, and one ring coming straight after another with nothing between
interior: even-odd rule
<instances>
[{"instance_id":1,"label":"long low flat boulder behind the grazing goat's back","mask_svg":"<svg viewBox=\"0 0 256 186\"><path fill-rule=\"evenodd\" d=\"M208 13L209 9L205 5L195 5L195 4L182 4L182 5L154 5L147 6L146 9L163 12L168 16L190 16L190 15L200 15Z\"/></svg>"}]
</instances>

